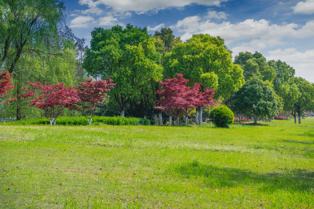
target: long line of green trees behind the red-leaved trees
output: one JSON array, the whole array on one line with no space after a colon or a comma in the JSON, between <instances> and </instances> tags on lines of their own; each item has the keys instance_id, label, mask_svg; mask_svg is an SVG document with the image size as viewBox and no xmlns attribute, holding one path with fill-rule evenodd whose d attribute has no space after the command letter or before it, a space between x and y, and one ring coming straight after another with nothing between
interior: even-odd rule
<instances>
[{"instance_id":1,"label":"long line of green trees behind the red-leaved trees","mask_svg":"<svg viewBox=\"0 0 314 209\"><path fill-rule=\"evenodd\" d=\"M108 99L88 111L144 117L163 124L172 113L155 108L159 106L156 101L165 98L158 92L164 90L163 81L177 74L187 79L185 86L191 89L200 83L200 94L215 89L213 99L227 105L240 121L292 114L301 123L302 112L314 109L313 83L295 77L295 70L285 62L267 61L259 52L241 52L232 61L232 52L219 36L194 34L182 41L170 28L150 35L146 28L128 24L125 28L95 28L87 47L85 39L77 38L66 26L61 1L2 1L0 7L0 71L8 71L16 87L4 96L15 97L15 101L4 105L2 99L1 117L41 116L28 106L27 99L17 96L27 81L70 87L89 77L111 77L115 85ZM195 123L202 124L209 111L210 107L199 103L181 115L192 113ZM62 114L82 113L65 110Z\"/></svg>"}]
</instances>

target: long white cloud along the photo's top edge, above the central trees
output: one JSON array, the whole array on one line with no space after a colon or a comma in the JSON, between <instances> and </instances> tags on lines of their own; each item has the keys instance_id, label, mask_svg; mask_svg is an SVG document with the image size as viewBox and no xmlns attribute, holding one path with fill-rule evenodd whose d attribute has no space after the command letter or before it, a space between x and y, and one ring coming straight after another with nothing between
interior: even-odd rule
<instances>
[{"instance_id":1,"label":"long white cloud along the photo's top edge, above the central trees","mask_svg":"<svg viewBox=\"0 0 314 209\"><path fill-rule=\"evenodd\" d=\"M105 5L110 7L115 12L133 11L138 14L144 14L148 12L158 12L159 10L166 8L182 8L190 4L199 4L205 6L220 6L222 2L228 0L80 0L81 5L88 5L92 8L97 5Z\"/></svg>"}]
</instances>

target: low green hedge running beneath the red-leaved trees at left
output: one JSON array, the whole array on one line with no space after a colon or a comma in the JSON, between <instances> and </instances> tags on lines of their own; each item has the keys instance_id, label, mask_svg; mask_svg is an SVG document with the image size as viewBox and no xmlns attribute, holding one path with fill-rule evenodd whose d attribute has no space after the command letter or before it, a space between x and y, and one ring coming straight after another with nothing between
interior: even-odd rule
<instances>
[{"instance_id":1,"label":"low green hedge running beneath the red-leaved trees at left","mask_svg":"<svg viewBox=\"0 0 314 209\"><path fill-rule=\"evenodd\" d=\"M92 123L102 123L108 125L117 125L117 126L149 126L150 121L144 118L134 118L134 117L104 117L104 116L94 116ZM19 121L7 122L9 125L40 125L40 124L50 124L46 118L40 119L26 119ZM84 116L80 117L58 117L56 119L57 125L63 126L86 126L88 121Z\"/></svg>"}]
</instances>

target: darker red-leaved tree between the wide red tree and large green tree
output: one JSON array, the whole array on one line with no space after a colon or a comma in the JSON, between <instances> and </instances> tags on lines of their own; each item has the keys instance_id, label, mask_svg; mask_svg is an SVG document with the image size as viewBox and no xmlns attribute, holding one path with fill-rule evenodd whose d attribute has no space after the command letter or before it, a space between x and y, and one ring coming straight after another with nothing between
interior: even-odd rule
<instances>
[{"instance_id":1,"label":"darker red-leaved tree between the wide red tree and large green tree","mask_svg":"<svg viewBox=\"0 0 314 209\"><path fill-rule=\"evenodd\" d=\"M76 89L80 100L78 100L72 108L81 111L88 123L91 124L97 103L102 103L106 98L106 93L110 91L114 85L115 83L113 83L110 77L108 80L96 81L92 81L92 78L90 78L86 79L84 82L78 83ZM90 110L90 119L87 117L86 110Z\"/></svg>"}]
</instances>

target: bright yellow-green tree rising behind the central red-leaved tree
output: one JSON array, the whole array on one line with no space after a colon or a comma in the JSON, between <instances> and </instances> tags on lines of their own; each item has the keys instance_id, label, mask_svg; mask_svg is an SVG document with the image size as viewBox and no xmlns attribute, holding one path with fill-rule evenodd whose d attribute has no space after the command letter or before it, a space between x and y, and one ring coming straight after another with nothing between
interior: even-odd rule
<instances>
[{"instance_id":1,"label":"bright yellow-green tree rising behind the central red-leaved tree","mask_svg":"<svg viewBox=\"0 0 314 209\"><path fill-rule=\"evenodd\" d=\"M202 88L217 89L215 97L227 99L231 92L243 85L243 70L233 65L231 51L221 37L196 34L185 43L179 43L164 57L164 77L183 74L189 86L203 83ZM202 124L202 107L197 108L195 121Z\"/></svg>"}]
</instances>

